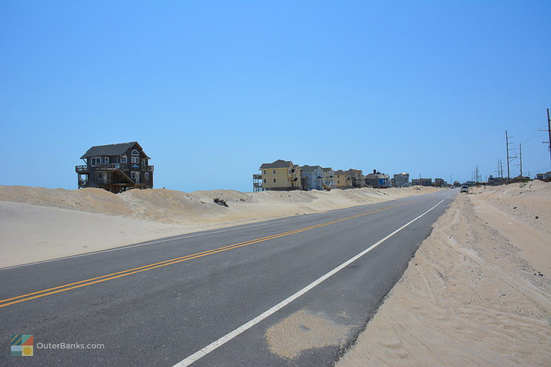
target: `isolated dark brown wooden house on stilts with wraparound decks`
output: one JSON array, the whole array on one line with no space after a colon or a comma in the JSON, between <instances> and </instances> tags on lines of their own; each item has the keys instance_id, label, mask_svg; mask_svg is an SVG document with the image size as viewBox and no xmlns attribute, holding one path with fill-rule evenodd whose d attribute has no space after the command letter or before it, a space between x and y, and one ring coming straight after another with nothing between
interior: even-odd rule
<instances>
[{"instance_id":1,"label":"isolated dark brown wooden house on stilts with wraparound decks","mask_svg":"<svg viewBox=\"0 0 551 367\"><path fill-rule=\"evenodd\" d=\"M99 187L119 193L127 189L153 188L151 158L135 141L97 145L88 149L81 159L85 165L74 168L79 177L79 189Z\"/></svg>"}]
</instances>

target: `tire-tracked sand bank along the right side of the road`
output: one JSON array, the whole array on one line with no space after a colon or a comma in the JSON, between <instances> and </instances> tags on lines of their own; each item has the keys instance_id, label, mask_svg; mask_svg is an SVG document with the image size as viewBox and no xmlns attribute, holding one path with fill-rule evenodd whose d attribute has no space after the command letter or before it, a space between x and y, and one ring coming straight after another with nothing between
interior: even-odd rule
<instances>
[{"instance_id":1,"label":"tire-tracked sand bank along the right side of the road","mask_svg":"<svg viewBox=\"0 0 551 367\"><path fill-rule=\"evenodd\" d=\"M337 367L551 366L550 190L458 195Z\"/></svg>"}]
</instances>

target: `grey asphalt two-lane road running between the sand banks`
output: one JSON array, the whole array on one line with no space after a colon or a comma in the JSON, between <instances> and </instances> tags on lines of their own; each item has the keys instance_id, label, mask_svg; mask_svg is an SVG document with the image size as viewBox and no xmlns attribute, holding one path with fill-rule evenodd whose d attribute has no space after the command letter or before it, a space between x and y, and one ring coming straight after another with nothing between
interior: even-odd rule
<instances>
[{"instance_id":1,"label":"grey asphalt two-lane road running between the sand banks","mask_svg":"<svg viewBox=\"0 0 551 367\"><path fill-rule=\"evenodd\" d=\"M364 329L455 193L0 269L0 365L174 366L199 350L193 366L331 365ZM272 353L266 331L298 312L346 331L344 347L328 344L295 358ZM236 329L242 332L203 349ZM10 356L13 334L34 336L32 357ZM61 343L81 348L39 348Z\"/></svg>"}]
</instances>

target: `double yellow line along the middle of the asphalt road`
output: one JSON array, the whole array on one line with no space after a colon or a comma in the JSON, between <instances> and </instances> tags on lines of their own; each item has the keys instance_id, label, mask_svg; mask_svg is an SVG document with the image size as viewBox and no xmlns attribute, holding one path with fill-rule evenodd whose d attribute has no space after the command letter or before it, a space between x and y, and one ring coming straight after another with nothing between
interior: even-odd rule
<instances>
[{"instance_id":1,"label":"double yellow line along the middle of the asphalt road","mask_svg":"<svg viewBox=\"0 0 551 367\"><path fill-rule=\"evenodd\" d=\"M46 295L52 295L52 294L56 294L56 293L70 291L71 289L81 288L83 286L90 286L92 284L106 282L107 280L116 279L118 277L125 277L127 275L141 273L142 271L157 269L157 268L160 268L162 266L177 264L178 262L184 262L184 261L191 260L191 259L202 258L203 256L212 255L214 253L219 253L219 252L222 252L222 251L229 251L229 250L233 250L233 249L238 249L239 247L248 246L249 244L255 244L255 243L258 243L258 242L273 240L275 238L281 238L281 237L284 237L284 236L287 236L287 235L293 235L295 233L300 233L300 232L309 231L309 230L315 229L315 228L329 226L329 225L335 224L337 222L342 222L344 220L351 220L351 219L354 219L354 218L367 216L368 214L373 214L373 213L377 213L379 211L384 211L384 210L387 210L387 209L400 207L402 205L406 205L406 204L409 204L410 202L415 202L415 201L419 201L419 200L412 200L412 201L404 202L402 204L391 205L390 207L384 207L382 209L377 209L377 210L374 210L374 211L368 211L366 213L357 214L357 215L351 216L351 217L341 218L341 219L337 219L337 220L331 220L331 222L315 224L313 226L304 227L304 228L301 228L301 229L295 229L294 231L279 233L279 234L276 234L276 235L269 235L267 237L256 238L255 240L249 240L249 241L240 242L240 243L237 243L237 244L230 244L229 246L218 247L218 249L212 249L212 250L209 250L209 251L193 253L191 255L182 256L180 258L174 258L174 259L165 260L165 261L161 261L161 262L155 262L154 264L140 266L140 267L134 268L134 269L128 269L128 270L125 270L125 271L118 271L116 273L101 275L101 277L92 277L90 279L81 280L80 282L63 284L62 286L56 286L54 288L44 289L42 291L28 293L28 294L25 294L25 295L18 295L17 297L6 298L6 300L0 300L0 308L10 306L11 304L17 304L19 302L25 302L25 301L34 300L36 298L45 297Z\"/></svg>"}]
</instances>

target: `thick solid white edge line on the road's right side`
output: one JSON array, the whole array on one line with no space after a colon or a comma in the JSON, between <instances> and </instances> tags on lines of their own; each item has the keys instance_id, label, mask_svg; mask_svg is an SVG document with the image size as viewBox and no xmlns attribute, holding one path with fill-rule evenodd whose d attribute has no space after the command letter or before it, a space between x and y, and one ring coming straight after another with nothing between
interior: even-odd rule
<instances>
[{"instance_id":1,"label":"thick solid white edge line on the road's right side","mask_svg":"<svg viewBox=\"0 0 551 367\"><path fill-rule=\"evenodd\" d=\"M381 240L375 242L374 244L372 244L370 247L368 247L367 249L365 249L364 251L358 253L357 255L355 255L353 258L351 258L350 260L347 260L346 262L343 262L342 264L340 264L339 266L337 266L335 269L329 271L329 273L326 273L325 275L322 275L321 277L319 277L317 280L314 280L313 282L311 282L310 284L308 284L307 286L305 286L303 289L301 289L300 291L298 291L297 293L291 295L291 297L288 297L287 299L283 300L282 302L276 304L275 306L273 306L272 308L270 308L268 311L265 311L264 313L261 313L260 315L258 315L257 317L251 319L251 321L247 322L246 324L243 324L242 326L239 326L238 328L236 328L234 331L231 331L230 333L227 333L226 335L224 335L223 337L221 337L220 339L216 340L216 342L212 342L211 344L209 344L208 346L205 346L205 348L202 348L201 350L198 350L196 353L190 355L189 357L183 359L182 361L179 361L177 364L174 365L174 367L185 367L185 366L189 366L190 364L194 363L194 361L197 361L198 359L202 358L202 357L205 357L205 355L211 353L213 350L215 350L216 348L218 348L219 346L222 346L224 344L226 344L227 342L229 342L231 339L233 339L234 337L240 335L241 333L243 333L244 331L247 331L247 329L251 328L252 326L258 324L259 322L261 322L263 319L269 317L270 315L273 315L273 313L279 311L281 308L283 308L284 306L287 306L287 304L290 304L291 302L293 302L294 300L296 300L298 297L300 297L301 295L303 295L304 293L310 291L311 289L313 289L313 287L317 286L318 284L320 284L321 282L323 282L324 280L326 280L327 278L331 277L332 275L334 275L335 273L337 273L338 271L344 269L346 266L349 266L349 264L351 264L352 262L355 262L355 260L361 258L363 255L365 255L366 253L368 253L369 251L375 249L375 247L379 246L380 244L382 244L382 242L388 240L388 238L391 238L393 235L395 235L396 233L398 233L399 231L402 231L402 229L408 227L408 225L410 225L411 223L415 222L416 220L418 220L419 218L421 218L422 216L424 216L426 213L428 213L429 211L435 209L435 207L437 207L438 205L440 205L441 202L443 202L444 200L440 200L438 202L437 205L435 205L434 207L428 209L428 211L425 211L424 213L422 213L420 216L418 216L417 218L415 218L414 220L411 220L410 222L404 224L402 227L399 227L399 229L393 231L393 233L387 235L385 238L382 238Z\"/></svg>"}]
</instances>

